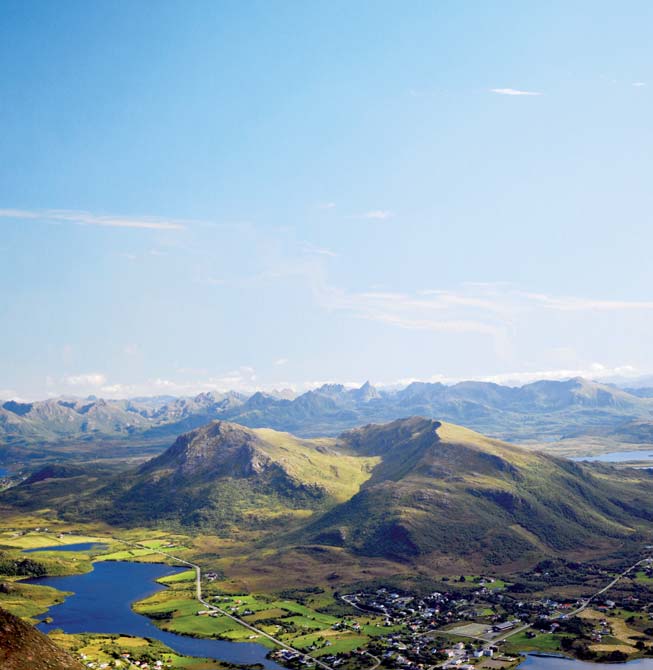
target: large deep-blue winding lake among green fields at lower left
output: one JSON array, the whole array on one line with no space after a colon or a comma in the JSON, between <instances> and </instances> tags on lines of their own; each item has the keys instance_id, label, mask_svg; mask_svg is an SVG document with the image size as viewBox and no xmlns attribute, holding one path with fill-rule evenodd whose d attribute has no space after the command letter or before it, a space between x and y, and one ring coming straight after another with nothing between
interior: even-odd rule
<instances>
[{"instance_id":1,"label":"large deep-blue winding lake among green fields at lower left","mask_svg":"<svg viewBox=\"0 0 653 670\"><path fill-rule=\"evenodd\" d=\"M284 670L265 658L268 649L254 642L229 642L177 635L157 628L146 616L130 605L165 587L154 580L187 568L171 568L160 563L126 561L95 563L92 572L68 577L39 577L28 584L52 586L73 595L53 605L46 614L51 623L39 624L44 632L61 628L65 633L121 633L160 640L186 656L214 658L230 663L261 663L268 670ZM198 603L197 608L202 609Z\"/></svg>"}]
</instances>

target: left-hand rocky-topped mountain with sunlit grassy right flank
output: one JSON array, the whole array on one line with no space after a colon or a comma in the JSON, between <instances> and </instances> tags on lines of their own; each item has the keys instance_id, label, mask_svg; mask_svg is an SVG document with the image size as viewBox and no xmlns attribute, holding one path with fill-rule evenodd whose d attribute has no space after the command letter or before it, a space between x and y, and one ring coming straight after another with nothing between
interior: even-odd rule
<instances>
[{"instance_id":1,"label":"left-hand rocky-topped mountain with sunlit grassy right flank","mask_svg":"<svg viewBox=\"0 0 653 670\"><path fill-rule=\"evenodd\" d=\"M269 528L349 499L377 462L349 454L334 440L214 421L99 488L82 507L112 523ZM64 506L69 514L79 505L74 508Z\"/></svg>"}]
</instances>

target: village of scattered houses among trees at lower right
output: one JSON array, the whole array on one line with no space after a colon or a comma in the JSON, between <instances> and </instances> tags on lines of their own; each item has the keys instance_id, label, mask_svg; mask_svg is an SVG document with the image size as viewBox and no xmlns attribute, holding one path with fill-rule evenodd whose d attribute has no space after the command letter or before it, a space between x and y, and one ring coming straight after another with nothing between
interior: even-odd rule
<instances>
[{"instance_id":1,"label":"village of scattered houses among trees at lower right","mask_svg":"<svg viewBox=\"0 0 653 670\"><path fill-rule=\"evenodd\" d=\"M603 576L603 570L597 572ZM359 614L382 616L388 632L367 645L362 652L367 659L361 658L361 650L320 655L320 659L343 668L370 667L371 655L379 665L402 670L503 670L521 661L520 652L562 651L592 658L594 645L608 660L618 660L625 657L616 640L624 618L631 625L635 619L641 621L639 627L646 630L637 636L632 629L633 651L653 654L653 629L646 623L653 618L653 610L649 613L653 600L632 592L640 591L637 584L642 579L653 581L650 563L627 580L617 595L593 599L591 608L590 598L529 597L515 594L505 582L491 577L461 577L448 589L420 596L385 587L362 589L340 599ZM336 626L357 629L356 623L346 619ZM287 652L276 657L291 666L307 663Z\"/></svg>"}]
</instances>

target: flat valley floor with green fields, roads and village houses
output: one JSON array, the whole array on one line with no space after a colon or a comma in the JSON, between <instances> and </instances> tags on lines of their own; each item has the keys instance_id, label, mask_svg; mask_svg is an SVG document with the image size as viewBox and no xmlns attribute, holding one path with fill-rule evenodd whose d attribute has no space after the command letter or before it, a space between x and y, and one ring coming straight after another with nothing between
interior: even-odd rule
<instances>
[{"instance_id":1,"label":"flat valley floor with green fields, roads and village houses","mask_svg":"<svg viewBox=\"0 0 653 670\"><path fill-rule=\"evenodd\" d=\"M102 544L82 551L38 551L94 542ZM502 578L390 575L385 574L387 566L376 566L367 575L352 573L346 586L340 579L330 583L328 578L309 586L282 584L283 575L274 580L267 575L267 583L276 581L277 588L244 589L245 583L257 585L260 579L245 575L244 555L240 569L234 570L236 576L231 574L233 540L165 530L73 526L47 516L16 515L5 518L0 545L0 607L32 621L47 616L48 608L68 594L24 584L25 576L83 573L99 561L176 563L166 553L201 565L204 604L197 600L195 570L189 568L162 578L167 588L135 603L135 611L151 617L163 630L255 641L267 646L279 664L290 667L319 663L343 670L378 666L500 670L516 665L519 653L525 651L600 661L653 655L653 564L644 547L639 555L624 556L621 563L550 559ZM22 553L27 549L37 551ZM63 632L51 636L85 664L97 667L103 663L116 667L116 662L136 667L135 661L138 667L228 666L182 657L151 639Z\"/></svg>"}]
</instances>

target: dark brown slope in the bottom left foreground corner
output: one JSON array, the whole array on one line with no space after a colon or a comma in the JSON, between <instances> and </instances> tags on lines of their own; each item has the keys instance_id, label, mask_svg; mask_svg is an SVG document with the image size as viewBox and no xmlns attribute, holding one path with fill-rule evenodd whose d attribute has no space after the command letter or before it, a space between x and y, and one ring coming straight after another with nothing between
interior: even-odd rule
<instances>
[{"instance_id":1,"label":"dark brown slope in the bottom left foreground corner","mask_svg":"<svg viewBox=\"0 0 653 670\"><path fill-rule=\"evenodd\" d=\"M34 626L0 608L2 670L82 670L70 654Z\"/></svg>"}]
</instances>

